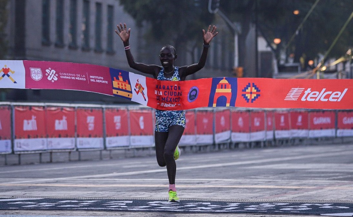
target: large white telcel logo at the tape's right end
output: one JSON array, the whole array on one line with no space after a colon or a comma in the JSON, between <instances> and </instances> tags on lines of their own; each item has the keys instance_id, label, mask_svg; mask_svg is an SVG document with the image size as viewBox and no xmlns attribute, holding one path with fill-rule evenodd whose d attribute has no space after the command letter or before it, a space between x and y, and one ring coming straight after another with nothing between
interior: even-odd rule
<instances>
[{"instance_id":1,"label":"large white telcel logo at the tape's right end","mask_svg":"<svg viewBox=\"0 0 353 217\"><path fill-rule=\"evenodd\" d=\"M331 102L339 102L346 94L348 88L345 88L343 92L340 91L326 91L326 88L323 88L321 92L319 91L311 91L311 88L308 88L304 91L304 88L292 88L285 100L298 100L300 95L304 91L303 97L301 97L301 101L331 101Z\"/></svg>"}]
</instances>

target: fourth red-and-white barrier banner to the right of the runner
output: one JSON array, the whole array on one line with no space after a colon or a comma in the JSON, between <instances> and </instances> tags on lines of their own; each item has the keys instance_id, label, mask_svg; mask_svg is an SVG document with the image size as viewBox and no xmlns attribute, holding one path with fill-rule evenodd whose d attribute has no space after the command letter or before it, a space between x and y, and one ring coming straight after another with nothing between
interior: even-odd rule
<instances>
[{"instance_id":1,"label":"fourth red-and-white barrier banner to the right of the runner","mask_svg":"<svg viewBox=\"0 0 353 217\"><path fill-rule=\"evenodd\" d=\"M250 112L232 111L232 142L250 142Z\"/></svg>"}]
</instances>

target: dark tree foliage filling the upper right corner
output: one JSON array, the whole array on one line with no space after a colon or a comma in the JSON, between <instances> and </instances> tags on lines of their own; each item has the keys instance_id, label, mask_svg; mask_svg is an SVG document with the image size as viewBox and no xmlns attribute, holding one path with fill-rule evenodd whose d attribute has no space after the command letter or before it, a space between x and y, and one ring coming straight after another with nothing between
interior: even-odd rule
<instances>
[{"instance_id":1,"label":"dark tree foliage filling the upper right corner","mask_svg":"<svg viewBox=\"0 0 353 217\"><path fill-rule=\"evenodd\" d=\"M257 2L256 2L257 1ZM321 0L296 32L316 0L221 0L221 10L232 17L234 21L244 24L246 16L252 14L255 21L257 14L258 27L264 36L272 42L281 38L282 47L287 47L287 54L295 54L295 60L305 54L315 59L319 53L325 54L341 30L350 14L353 12L351 0ZM255 7L257 3L257 8ZM246 8L251 9L246 10ZM299 11L298 15L293 12ZM289 43L295 34L294 40ZM353 21L349 23L335 44L328 57L339 57L353 45Z\"/></svg>"}]
</instances>

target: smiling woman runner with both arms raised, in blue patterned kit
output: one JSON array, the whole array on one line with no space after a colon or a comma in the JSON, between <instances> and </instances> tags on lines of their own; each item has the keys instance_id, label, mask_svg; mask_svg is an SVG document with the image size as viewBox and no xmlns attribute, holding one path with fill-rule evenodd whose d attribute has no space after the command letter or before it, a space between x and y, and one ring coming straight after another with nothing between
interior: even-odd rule
<instances>
[{"instance_id":1,"label":"smiling woman runner with both arms raised, in blue patterned kit","mask_svg":"<svg viewBox=\"0 0 353 217\"><path fill-rule=\"evenodd\" d=\"M211 25L207 32L203 32L203 51L200 60L191 66L175 67L174 61L177 60L177 50L172 45L164 45L160 51L160 61L162 66L146 65L144 63L135 62L130 51L130 30L126 24L118 24L118 30L115 30L124 43L125 54L129 66L139 72L151 74L155 79L166 81L184 81L187 75L194 74L205 66L208 48L216 32L217 27ZM177 165L175 160L179 158L180 149L177 147L181 136L185 129L185 111L162 111L156 110L155 125L155 144L156 157L158 165L167 166L167 174L169 180L169 202L180 202L175 188L175 174Z\"/></svg>"}]
</instances>

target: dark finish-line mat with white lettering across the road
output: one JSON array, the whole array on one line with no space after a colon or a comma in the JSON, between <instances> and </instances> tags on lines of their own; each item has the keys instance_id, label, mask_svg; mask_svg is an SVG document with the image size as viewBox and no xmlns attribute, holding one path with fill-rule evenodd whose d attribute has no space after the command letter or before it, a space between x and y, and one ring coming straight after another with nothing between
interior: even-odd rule
<instances>
[{"instance_id":1,"label":"dark finish-line mat with white lettering across the road","mask_svg":"<svg viewBox=\"0 0 353 217\"><path fill-rule=\"evenodd\" d=\"M0 210L84 210L115 212L168 213L248 213L282 215L352 216L352 203L244 202L182 199L180 203L166 198L0 198ZM169 214L170 215L170 214ZM173 214L172 214L173 215ZM158 215L159 216L159 215Z\"/></svg>"}]
</instances>

